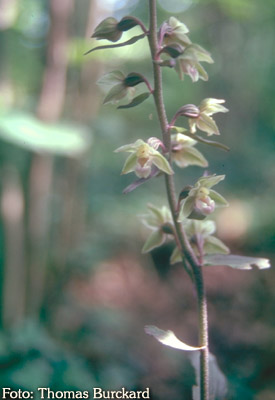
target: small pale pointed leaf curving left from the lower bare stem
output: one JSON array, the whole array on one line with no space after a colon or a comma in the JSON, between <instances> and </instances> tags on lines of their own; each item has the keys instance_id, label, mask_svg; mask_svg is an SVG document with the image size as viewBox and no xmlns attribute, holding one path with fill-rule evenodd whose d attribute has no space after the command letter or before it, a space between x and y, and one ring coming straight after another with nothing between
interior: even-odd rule
<instances>
[{"instance_id":1,"label":"small pale pointed leaf curving left from the lower bare stem","mask_svg":"<svg viewBox=\"0 0 275 400\"><path fill-rule=\"evenodd\" d=\"M193 347L185 344L181 340L179 340L174 332L172 331L163 331L162 329L157 328L154 325L147 325L144 327L145 332L148 335L154 336L158 342L164 344L165 346L173 347L174 349L183 350L183 351L198 351L205 348L202 347Z\"/></svg>"}]
</instances>

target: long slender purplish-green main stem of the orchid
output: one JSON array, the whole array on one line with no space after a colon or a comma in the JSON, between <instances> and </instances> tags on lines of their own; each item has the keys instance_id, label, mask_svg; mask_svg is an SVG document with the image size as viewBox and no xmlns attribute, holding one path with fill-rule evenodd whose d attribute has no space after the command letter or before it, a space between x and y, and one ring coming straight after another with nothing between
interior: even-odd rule
<instances>
[{"instance_id":1,"label":"long slender purplish-green main stem of the orchid","mask_svg":"<svg viewBox=\"0 0 275 400\"><path fill-rule=\"evenodd\" d=\"M165 105L163 101L163 90L162 90L162 73L161 67L154 62L158 53L158 37L157 37L157 9L156 0L149 0L149 12L150 12L150 28L149 28L149 45L151 50L151 56L153 60L153 73L154 73L154 100L155 106L162 130L162 138L165 148L168 153L168 160L171 161L171 138L169 133L169 124L167 120ZM196 285L197 298L198 298L198 312L199 312L199 346L205 346L201 350L200 357L200 392L201 400L208 400L208 382L209 382L209 371L208 371L208 322L207 322L207 302L206 294L204 289L203 274L201 264L199 263L190 242L186 236L186 233L177 220L177 196L175 190L175 182L172 175L165 174L166 192L168 202L170 205L173 221L175 224L175 230L177 233L177 242L180 244L180 250L193 271L194 282Z\"/></svg>"}]
</instances>

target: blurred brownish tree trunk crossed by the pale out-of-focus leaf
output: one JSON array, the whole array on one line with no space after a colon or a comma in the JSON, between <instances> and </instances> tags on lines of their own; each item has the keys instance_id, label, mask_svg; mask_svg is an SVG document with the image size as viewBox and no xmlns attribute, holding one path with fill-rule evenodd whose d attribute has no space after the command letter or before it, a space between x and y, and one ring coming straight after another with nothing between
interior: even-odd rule
<instances>
[{"instance_id":1,"label":"blurred brownish tree trunk crossed by the pale out-of-focus leaf","mask_svg":"<svg viewBox=\"0 0 275 400\"><path fill-rule=\"evenodd\" d=\"M73 0L50 1L51 27L48 41L47 64L37 108L40 119L51 123L62 113L66 94L67 50L69 23ZM29 199L29 297L28 309L37 316L44 296L48 259L50 194L53 179L53 157L33 155L30 173Z\"/></svg>"}]
</instances>

